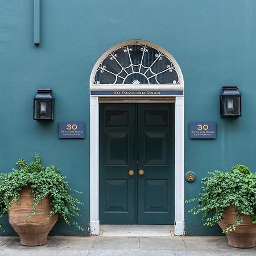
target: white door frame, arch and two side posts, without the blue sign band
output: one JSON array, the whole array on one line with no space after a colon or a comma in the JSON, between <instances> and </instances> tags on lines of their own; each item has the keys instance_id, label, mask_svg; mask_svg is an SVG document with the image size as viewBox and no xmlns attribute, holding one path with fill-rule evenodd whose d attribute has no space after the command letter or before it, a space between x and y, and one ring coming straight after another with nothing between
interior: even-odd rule
<instances>
[{"instance_id":1,"label":"white door frame, arch and two side posts, without the blue sign band","mask_svg":"<svg viewBox=\"0 0 256 256\"><path fill-rule=\"evenodd\" d=\"M90 90L97 90L100 86L93 85L93 75L96 71L98 63L102 61L106 56L108 56L110 51L119 47L120 45L125 45L127 43L138 43L136 41L129 41L118 44L109 49L104 55L100 57L97 63L94 65L92 75L90 77ZM145 43L140 41L140 43ZM155 44L146 42L146 44L151 44L154 47L158 47ZM184 89L183 75L174 57L170 55L166 50L160 48L164 51L168 57L175 64L177 71L179 72L180 85L166 85L161 86L163 89L169 90L180 90ZM143 89L152 90L148 86ZM111 90L113 86L109 87ZM121 86L114 86L114 90L123 89ZM127 88L127 86L126 86ZM106 90L106 88L100 88L101 90ZM129 88L130 89L130 88ZM133 87L134 90L142 89L142 86L138 88ZM174 93L175 94L175 93ZM156 96L157 97L157 96ZM175 236L182 236L184 234L184 97L183 95L174 95L175 97ZM100 220L99 220L99 97L97 95L90 95L90 234L98 235L100 234Z\"/></svg>"}]
</instances>

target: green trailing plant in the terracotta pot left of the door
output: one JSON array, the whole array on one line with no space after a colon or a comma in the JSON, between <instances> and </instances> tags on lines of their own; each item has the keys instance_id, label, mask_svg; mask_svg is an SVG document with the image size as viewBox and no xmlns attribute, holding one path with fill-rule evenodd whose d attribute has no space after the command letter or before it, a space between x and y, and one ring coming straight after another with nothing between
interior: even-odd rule
<instances>
[{"instance_id":1,"label":"green trailing plant in the terracotta pot left of the door","mask_svg":"<svg viewBox=\"0 0 256 256\"><path fill-rule=\"evenodd\" d=\"M73 216L80 216L78 205L82 203L69 191L81 192L69 188L65 176L60 174L60 170L55 166L44 167L38 154L35 154L35 162L27 164L22 158L16 165L18 168L13 169L12 172L0 174L0 218L9 213L11 204L19 200L22 188L27 187L30 188L33 195L32 211L28 215L28 219L35 214L39 201L49 196L52 209L47 218L53 214L59 214L68 225L73 224L79 230L84 230L77 222L72 221ZM10 200L11 198L12 200ZM2 227L1 224L0 226Z\"/></svg>"}]
</instances>

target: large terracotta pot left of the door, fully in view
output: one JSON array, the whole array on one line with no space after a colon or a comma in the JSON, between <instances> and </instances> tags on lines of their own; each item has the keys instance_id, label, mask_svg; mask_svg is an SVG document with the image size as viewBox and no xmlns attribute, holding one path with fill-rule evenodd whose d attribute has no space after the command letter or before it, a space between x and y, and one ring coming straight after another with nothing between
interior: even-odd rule
<instances>
[{"instance_id":1,"label":"large terracotta pot left of the door, fully in view","mask_svg":"<svg viewBox=\"0 0 256 256\"><path fill-rule=\"evenodd\" d=\"M28 218L32 210L32 193L28 188L23 188L17 203L10 207L9 222L20 237L20 243L26 246L44 245L47 236L57 221L57 214L46 218L51 210L51 199L46 197L36 205L36 214Z\"/></svg>"}]
</instances>

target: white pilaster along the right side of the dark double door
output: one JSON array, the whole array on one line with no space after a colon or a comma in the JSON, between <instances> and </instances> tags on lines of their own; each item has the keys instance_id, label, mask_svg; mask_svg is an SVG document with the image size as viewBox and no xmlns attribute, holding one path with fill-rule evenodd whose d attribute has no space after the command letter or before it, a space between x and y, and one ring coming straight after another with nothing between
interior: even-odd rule
<instances>
[{"instance_id":1,"label":"white pilaster along the right side of the dark double door","mask_svg":"<svg viewBox=\"0 0 256 256\"><path fill-rule=\"evenodd\" d=\"M175 99L175 236L184 234L184 98Z\"/></svg>"}]
</instances>

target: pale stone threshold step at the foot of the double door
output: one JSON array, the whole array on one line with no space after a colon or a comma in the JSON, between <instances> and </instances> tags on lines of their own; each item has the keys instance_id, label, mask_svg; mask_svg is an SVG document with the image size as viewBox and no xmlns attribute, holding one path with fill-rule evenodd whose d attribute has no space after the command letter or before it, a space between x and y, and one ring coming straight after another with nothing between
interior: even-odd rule
<instances>
[{"instance_id":1,"label":"pale stone threshold step at the foot of the double door","mask_svg":"<svg viewBox=\"0 0 256 256\"><path fill-rule=\"evenodd\" d=\"M100 225L101 237L174 237L174 225Z\"/></svg>"}]
</instances>

